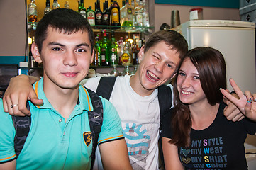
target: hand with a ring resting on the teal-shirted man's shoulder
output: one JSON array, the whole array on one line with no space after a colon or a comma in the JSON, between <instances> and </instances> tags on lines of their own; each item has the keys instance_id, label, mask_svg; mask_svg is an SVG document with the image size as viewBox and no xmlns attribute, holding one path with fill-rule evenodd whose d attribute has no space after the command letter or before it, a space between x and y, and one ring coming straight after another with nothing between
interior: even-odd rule
<instances>
[{"instance_id":1,"label":"hand with a ring resting on the teal-shirted man's shoulder","mask_svg":"<svg viewBox=\"0 0 256 170\"><path fill-rule=\"evenodd\" d=\"M38 99L31 83L38 81L37 77L19 75L11 78L8 88L4 94L4 111L11 115L30 115L26 108L26 101L31 100L34 104L42 104L43 100ZM11 108L11 105L18 104Z\"/></svg>"}]
</instances>

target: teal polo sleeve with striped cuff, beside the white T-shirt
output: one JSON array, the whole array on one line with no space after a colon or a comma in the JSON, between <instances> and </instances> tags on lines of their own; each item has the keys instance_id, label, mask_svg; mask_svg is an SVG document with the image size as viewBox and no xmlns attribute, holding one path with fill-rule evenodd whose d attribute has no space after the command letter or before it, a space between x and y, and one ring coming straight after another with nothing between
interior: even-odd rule
<instances>
[{"instance_id":1,"label":"teal polo sleeve with striped cuff, beside the white T-shirt","mask_svg":"<svg viewBox=\"0 0 256 170\"><path fill-rule=\"evenodd\" d=\"M110 101L106 100L105 98L101 97L101 101L104 111L101 132L99 133L99 144L123 138L121 120L116 111L116 108Z\"/></svg>"}]
</instances>

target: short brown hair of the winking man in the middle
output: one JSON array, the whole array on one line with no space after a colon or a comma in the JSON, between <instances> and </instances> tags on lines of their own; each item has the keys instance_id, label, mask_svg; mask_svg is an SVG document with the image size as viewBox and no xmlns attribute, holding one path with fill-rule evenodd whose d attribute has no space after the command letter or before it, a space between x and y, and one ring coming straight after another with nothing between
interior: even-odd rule
<instances>
[{"instance_id":1,"label":"short brown hair of the winking man in the middle","mask_svg":"<svg viewBox=\"0 0 256 170\"><path fill-rule=\"evenodd\" d=\"M158 42L165 42L172 46L172 49L179 52L179 57L182 59L187 54L188 44L187 40L175 30L159 30L153 33L145 43L144 52L147 52L150 47L155 46Z\"/></svg>"}]
</instances>

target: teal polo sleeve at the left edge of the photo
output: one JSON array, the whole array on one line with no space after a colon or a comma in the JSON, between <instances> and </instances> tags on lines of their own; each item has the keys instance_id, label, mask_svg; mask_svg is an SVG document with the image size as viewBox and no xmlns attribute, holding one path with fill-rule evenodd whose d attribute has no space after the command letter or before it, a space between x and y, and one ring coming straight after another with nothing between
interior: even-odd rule
<instances>
[{"instance_id":1,"label":"teal polo sleeve at the left edge of the photo","mask_svg":"<svg viewBox=\"0 0 256 170\"><path fill-rule=\"evenodd\" d=\"M9 113L4 112L0 98L0 164L16 158L14 150L15 129Z\"/></svg>"}]
</instances>

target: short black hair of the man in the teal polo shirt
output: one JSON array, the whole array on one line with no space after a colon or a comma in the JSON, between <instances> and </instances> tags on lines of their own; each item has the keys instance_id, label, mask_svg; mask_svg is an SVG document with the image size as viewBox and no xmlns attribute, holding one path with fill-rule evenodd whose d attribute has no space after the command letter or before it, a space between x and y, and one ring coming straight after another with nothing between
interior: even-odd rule
<instances>
[{"instance_id":1,"label":"short black hair of the man in the teal polo shirt","mask_svg":"<svg viewBox=\"0 0 256 170\"><path fill-rule=\"evenodd\" d=\"M87 32L91 44L91 54L94 47L94 32L91 29L87 19L72 9L57 8L45 14L38 22L35 30L35 44L38 46L39 52L42 50L43 41L47 37L48 27L60 30L63 33L72 34L79 30Z\"/></svg>"}]
</instances>

